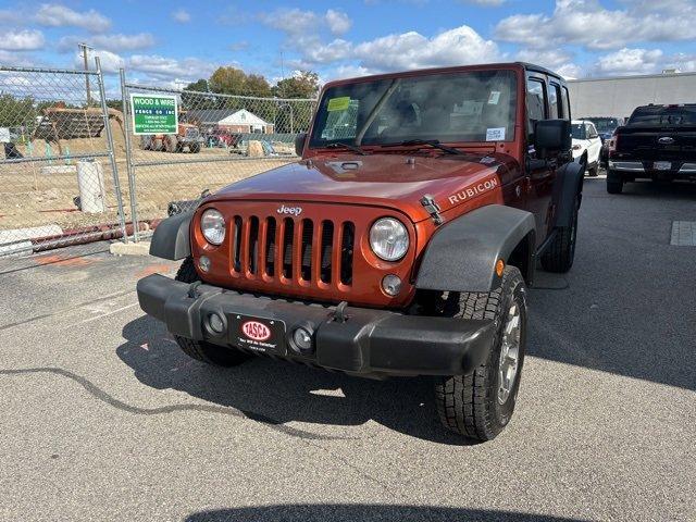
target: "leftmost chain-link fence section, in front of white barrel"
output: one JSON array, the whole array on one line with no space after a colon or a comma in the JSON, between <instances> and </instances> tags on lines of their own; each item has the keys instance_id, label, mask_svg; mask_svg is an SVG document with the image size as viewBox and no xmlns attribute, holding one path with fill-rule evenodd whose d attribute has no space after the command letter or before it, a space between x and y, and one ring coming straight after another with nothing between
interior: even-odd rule
<instances>
[{"instance_id":1,"label":"leftmost chain-link fence section, in front of white barrel","mask_svg":"<svg viewBox=\"0 0 696 522\"><path fill-rule=\"evenodd\" d=\"M99 64L0 66L0 257L124 237L113 147L123 124Z\"/></svg>"}]
</instances>

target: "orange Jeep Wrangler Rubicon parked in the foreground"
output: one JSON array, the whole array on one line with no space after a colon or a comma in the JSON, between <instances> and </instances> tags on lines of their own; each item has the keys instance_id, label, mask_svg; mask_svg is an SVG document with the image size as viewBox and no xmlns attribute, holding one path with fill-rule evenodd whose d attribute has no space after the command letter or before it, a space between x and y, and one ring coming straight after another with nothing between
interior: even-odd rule
<instances>
[{"instance_id":1,"label":"orange Jeep Wrangler Rubicon parked in the foreground","mask_svg":"<svg viewBox=\"0 0 696 522\"><path fill-rule=\"evenodd\" d=\"M190 357L430 375L443 424L509 422L537 261L573 263L583 173L563 79L525 63L327 84L301 160L164 220L140 307Z\"/></svg>"}]
</instances>

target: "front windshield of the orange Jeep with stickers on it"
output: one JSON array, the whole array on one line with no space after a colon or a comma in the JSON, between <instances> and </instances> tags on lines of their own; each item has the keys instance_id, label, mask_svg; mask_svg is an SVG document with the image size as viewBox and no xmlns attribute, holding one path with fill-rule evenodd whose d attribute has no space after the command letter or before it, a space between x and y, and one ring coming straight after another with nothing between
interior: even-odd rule
<instances>
[{"instance_id":1,"label":"front windshield of the orange Jeep with stickers on it","mask_svg":"<svg viewBox=\"0 0 696 522\"><path fill-rule=\"evenodd\" d=\"M316 113L310 147L406 140L511 141L512 71L431 74L332 87Z\"/></svg>"}]
</instances>

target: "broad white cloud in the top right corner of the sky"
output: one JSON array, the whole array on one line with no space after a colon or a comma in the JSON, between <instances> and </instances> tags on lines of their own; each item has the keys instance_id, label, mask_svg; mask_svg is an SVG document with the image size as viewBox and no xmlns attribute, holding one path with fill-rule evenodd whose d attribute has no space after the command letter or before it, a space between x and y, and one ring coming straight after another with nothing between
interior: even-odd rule
<instances>
[{"instance_id":1,"label":"broad white cloud in the top right corner of the sky","mask_svg":"<svg viewBox=\"0 0 696 522\"><path fill-rule=\"evenodd\" d=\"M652 4L624 0L626 9L608 10L598 0L556 0L551 15L515 14L500 21L498 38L530 48L580 45L587 49L620 49L633 41L696 38L696 3L657 0Z\"/></svg>"}]
</instances>

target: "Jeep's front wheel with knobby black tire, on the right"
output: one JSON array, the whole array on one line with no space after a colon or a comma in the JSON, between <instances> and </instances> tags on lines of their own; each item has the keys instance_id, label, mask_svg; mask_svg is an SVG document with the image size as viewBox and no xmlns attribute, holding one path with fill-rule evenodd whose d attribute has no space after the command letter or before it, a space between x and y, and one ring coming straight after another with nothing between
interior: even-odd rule
<instances>
[{"instance_id":1,"label":"Jeep's front wheel with knobby black tire, on the right","mask_svg":"<svg viewBox=\"0 0 696 522\"><path fill-rule=\"evenodd\" d=\"M507 266L500 287L459 294L455 319L489 319L496 325L486 361L470 375L437 377L435 402L443 425L467 438L495 438L510 422L520 388L526 344L526 287Z\"/></svg>"}]
</instances>

